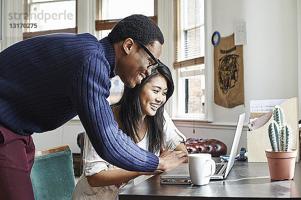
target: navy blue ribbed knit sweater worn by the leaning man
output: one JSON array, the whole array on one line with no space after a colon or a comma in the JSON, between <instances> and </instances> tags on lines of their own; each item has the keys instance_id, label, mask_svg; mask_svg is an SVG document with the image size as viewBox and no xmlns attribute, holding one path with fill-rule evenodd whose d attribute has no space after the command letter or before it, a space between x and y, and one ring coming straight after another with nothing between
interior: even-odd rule
<instances>
[{"instance_id":1,"label":"navy blue ribbed knit sweater worn by the leaning man","mask_svg":"<svg viewBox=\"0 0 301 200\"><path fill-rule=\"evenodd\" d=\"M113 45L89 33L57 33L0 52L0 125L21 135L53 130L78 114L108 162L154 171L159 158L118 129L106 98L115 76Z\"/></svg>"}]
</instances>

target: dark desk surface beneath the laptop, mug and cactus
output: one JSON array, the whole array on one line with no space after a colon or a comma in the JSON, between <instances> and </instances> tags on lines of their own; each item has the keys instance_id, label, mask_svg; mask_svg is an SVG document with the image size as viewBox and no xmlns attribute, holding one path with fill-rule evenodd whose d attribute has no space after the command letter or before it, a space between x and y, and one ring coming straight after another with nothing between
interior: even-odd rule
<instances>
[{"instance_id":1,"label":"dark desk surface beneath the laptop, mug and cactus","mask_svg":"<svg viewBox=\"0 0 301 200\"><path fill-rule=\"evenodd\" d=\"M271 180L267 162L235 161L228 177L197 186L160 184L157 174L119 194L126 199L271 199L301 198L301 163L296 162L293 180Z\"/></svg>"}]
</instances>

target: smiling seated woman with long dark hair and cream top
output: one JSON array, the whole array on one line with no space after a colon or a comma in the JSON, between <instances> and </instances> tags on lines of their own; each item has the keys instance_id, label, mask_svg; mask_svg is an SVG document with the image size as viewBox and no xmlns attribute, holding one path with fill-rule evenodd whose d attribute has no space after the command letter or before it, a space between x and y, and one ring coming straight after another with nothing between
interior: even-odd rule
<instances>
[{"instance_id":1,"label":"smiling seated woman with long dark hair and cream top","mask_svg":"<svg viewBox=\"0 0 301 200\"><path fill-rule=\"evenodd\" d=\"M140 148L158 156L162 148L188 154L185 135L164 110L173 91L171 71L160 63L140 84L133 88L124 86L121 99L112 105L119 128ZM98 156L87 135L83 160L83 175L73 191L74 200L118 199L119 187L127 189L159 172L134 172L114 167Z\"/></svg>"}]
</instances>

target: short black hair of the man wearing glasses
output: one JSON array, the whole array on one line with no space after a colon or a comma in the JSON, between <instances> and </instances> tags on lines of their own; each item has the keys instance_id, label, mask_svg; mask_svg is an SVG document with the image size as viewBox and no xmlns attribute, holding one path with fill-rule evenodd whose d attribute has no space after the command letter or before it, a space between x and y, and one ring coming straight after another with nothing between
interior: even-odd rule
<instances>
[{"instance_id":1,"label":"short black hair of the man wearing glasses","mask_svg":"<svg viewBox=\"0 0 301 200\"><path fill-rule=\"evenodd\" d=\"M142 14L133 14L120 20L108 34L108 38L112 43L126 38L138 40L144 45L153 44L155 41L164 43L164 37L158 25Z\"/></svg>"}]
</instances>

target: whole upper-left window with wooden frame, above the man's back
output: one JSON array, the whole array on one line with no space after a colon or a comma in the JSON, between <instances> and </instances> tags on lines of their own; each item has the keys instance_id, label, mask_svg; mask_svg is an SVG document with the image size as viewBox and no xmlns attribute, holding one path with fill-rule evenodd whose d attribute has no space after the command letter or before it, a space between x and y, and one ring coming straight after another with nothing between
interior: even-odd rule
<instances>
[{"instance_id":1,"label":"whole upper-left window with wooden frame, above the man's back","mask_svg":"<svg viewBox=\"0 0 301 200\"><path fill-rule=\"evenodd\" d=\"M77 32L76 0L24 0L24 39L33 36Z\"/></svg>"}]
</instances>

